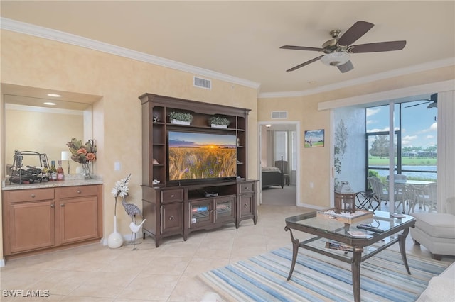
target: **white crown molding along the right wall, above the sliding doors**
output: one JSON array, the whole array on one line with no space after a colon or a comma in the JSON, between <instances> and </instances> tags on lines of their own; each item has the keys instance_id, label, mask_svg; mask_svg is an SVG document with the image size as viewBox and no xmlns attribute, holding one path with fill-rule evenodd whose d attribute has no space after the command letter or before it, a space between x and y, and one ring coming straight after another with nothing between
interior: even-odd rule
<instances>
[{"instance_id":1,"label":"white crown molding along the right wall, above the sliding doors","mask_svg":"<svg viewBox=\"0 0 455 302\"><path fill-rule=\"evenodd\" d=\"M412 67L393 69L387 72L381 72L378 74L373 74L368 77L361 77L358 79L351 79L349 81L338 82L336 84L321 86L315 89L308 89L304 91L282 91L282 92L264 92L259 94L258 99L270 99L270 98L289 98L296 96L309 96L311 94L319 94L321 92L331 91L335 89L346 88L348 86L355 86L359 84L366 84L369 82L375 82L381 79L388 79L390 77L399 77L406 74L412 74L414 72L422 72L430 69L437 69L441 67L448 67L455 65L455 57L449 57L443 60L437 60L427 63L422 63L419 65L414 65Z\"/></svg>"}]
</instances>

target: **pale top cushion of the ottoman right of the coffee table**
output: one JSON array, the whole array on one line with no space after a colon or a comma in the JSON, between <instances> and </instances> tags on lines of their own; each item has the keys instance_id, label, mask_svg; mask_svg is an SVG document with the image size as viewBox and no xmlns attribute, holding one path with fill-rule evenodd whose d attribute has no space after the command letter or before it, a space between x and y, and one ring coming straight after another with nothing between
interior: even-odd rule
<instances>
[{"instance_id":1,"label":"pale top cushion of the ottoman right of the coffee table","mask_svg":"<svg viewBox=\"0 0 455 302\"><path fill-rule=\"evenodd\" d=\"M415 227L437 238L455 238L455 216L446 213L413 213Z\"/></svg>"}]
</instances>

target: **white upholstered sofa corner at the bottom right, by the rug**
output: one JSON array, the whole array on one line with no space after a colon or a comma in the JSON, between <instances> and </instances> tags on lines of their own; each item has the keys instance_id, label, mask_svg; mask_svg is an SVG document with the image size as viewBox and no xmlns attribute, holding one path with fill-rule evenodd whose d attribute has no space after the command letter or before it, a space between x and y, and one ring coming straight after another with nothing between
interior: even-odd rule
<instances>
[{"instance_id":1,"label":"white upholstered sofa corner at the bottom right, by the rug","mask_svg":"<svg viewBox=\"0 0 455 302\"><path fill-rule=\"evenodd\" d=\"M416 302L455 301L455 262L439 276L434 276Z\"/></svg>"}]
</instances>

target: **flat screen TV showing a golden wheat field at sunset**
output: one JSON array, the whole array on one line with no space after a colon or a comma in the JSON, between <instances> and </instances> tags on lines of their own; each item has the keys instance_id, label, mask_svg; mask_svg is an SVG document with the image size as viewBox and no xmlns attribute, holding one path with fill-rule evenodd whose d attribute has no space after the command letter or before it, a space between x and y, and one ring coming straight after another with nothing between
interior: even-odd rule
<instances>
[{"instance_id":1,"label":"flat screen TV showing a golden wheat field at sunset","mask_svg":"<svg viewBox=\"0 0 455 302\"><path fill-rule=\"evenodd\" d=\"M168 179L237 177L235 135L168 131Z\"/></svg>"}]
</instances>

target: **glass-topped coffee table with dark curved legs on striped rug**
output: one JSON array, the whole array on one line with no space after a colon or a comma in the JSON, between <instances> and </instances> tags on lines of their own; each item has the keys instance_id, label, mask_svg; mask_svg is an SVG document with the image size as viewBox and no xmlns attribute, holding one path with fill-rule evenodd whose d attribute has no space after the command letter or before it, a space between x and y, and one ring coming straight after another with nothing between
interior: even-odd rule
<instances>
[{"instance_id":1,"label":"glass-topped coffee table with dark curved legs on striped rug","mask_svg":"<svg viewBox=\"0 0 455 302\"><path fill-rule=\"evenodd\" d=\"M323 210L322 210L323 211ZM402 218L392 217L392 214L385 211L375 211L373 218L355 221L355 223L343 223L336 219L323 218L316 216L317 211L305 213L297 216L286 218L286 227L284 230L289 230L291 233L292 263L287 280L291 279L292 272L296 264L299 247L307 250L318 252L320 254L338 259L351 264L353 295L354 301L360 301L360 263L366 259L385 250L387 247L394 245L396 242L400 245L400 253L405 264L408 274L411 274L410 268L407 265L406 259L406 236L409 233L410 227L414 226L415 219L412 216L402 215ZM362 230L366 237L353 237L349 231L359 231L357 225L366 224L383 230L382 233L373 233L367 230ZM304 233L315 235L314 237L299 241L293 230L298 230ZM402 232L402 233L400 233ZM350 246L351 252L342 250L333 250L326 248L327 240L336 241L341 245Z\"/></svg>"}]
</instances>

